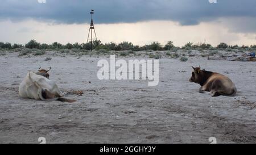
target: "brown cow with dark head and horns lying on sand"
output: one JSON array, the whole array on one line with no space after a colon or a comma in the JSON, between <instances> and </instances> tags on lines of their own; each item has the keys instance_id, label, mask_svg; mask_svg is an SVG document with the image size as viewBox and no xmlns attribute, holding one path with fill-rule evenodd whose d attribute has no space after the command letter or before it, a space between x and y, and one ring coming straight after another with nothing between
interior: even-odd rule
<instances>
[{"instance_id":1,"label":"brown cow with dark head and horns lying on sand","mask_svg":"<svg viewBox=\"0 0 256 155\"><path fill-rule=\"evenodd\" d=\"M234 96L237 93L236 86L226 76L219 73L213 73L199 68L193 68L192 77L190 82L199 83L201 85L199 92L210 91L212 97L218 97L220 95Z\"/></svg>"}]
</instances>

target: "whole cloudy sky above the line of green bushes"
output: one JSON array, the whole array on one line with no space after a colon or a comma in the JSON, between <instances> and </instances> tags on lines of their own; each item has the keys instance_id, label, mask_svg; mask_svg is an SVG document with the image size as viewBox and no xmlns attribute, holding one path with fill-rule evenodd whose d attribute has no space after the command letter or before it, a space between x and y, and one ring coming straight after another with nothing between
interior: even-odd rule
<instances>
[{"instance_id":1,"label":"whole cloudy sky above the line of green bushes","mask_svg":"<svg viewBox=\"0 0 256 155\"><path fill-rule=\"evenodd\" d=\"M97 37L104 43L256 44L255 0L42 1L1 0L0 41L84 43L94 9Z\"/></svg>"}]
</instances>

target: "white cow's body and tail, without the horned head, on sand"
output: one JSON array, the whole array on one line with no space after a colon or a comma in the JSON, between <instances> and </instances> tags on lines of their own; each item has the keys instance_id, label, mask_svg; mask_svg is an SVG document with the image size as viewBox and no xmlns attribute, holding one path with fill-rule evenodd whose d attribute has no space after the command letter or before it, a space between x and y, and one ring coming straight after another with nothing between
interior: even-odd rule
<instances>
[{"instance_id":1,"label":"white cow's body and tail, without the horned head, on sand","mask_svg":"<svg viewBox=\"0 0 256 155\"><path fill-rule=\"evenodd\" d=\"M46 75L46 74L44 74ZM49 76L48 76L49 77ZM63 94L54 81L47 77L29 71L19 85L19 96L41 100L60 100L61 102L75 102L76 100L62 98Z\"/></svg>"}]
</instances>

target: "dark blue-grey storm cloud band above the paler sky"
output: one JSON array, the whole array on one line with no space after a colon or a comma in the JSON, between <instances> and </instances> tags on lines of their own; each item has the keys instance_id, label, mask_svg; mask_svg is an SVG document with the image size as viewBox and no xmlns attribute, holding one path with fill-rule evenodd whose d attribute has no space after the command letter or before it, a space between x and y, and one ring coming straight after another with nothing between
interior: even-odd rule
<instances>
[{"instance_id":1,"label":"dark blue-grey storm cloud band above the paler sky","mask_svg":"<svg viewBox=\"0 0 256 155\"><path fill-rule=\"evenodd\" d=\"M173 20L195 25L220 17L255 17L255 0L1 0L0 20L52 20L57 23L88 23L90 9L96 23L131 23Z\"/></svg>"}]
</instances>

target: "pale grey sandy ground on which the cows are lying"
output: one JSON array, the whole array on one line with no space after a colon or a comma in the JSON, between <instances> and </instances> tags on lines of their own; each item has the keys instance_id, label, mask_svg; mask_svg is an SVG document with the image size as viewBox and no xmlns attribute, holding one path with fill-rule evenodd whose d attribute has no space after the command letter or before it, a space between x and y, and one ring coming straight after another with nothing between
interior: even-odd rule
<instances>
[{"instance_id":1,"label":"pale grey sandy ground on which the cows are lying","mask_svg":"<svg viewBox=\"0 0 256 155\"><path fill-rule=\"evenodd\" d=\"M160 58L159 85L148 86L100 81L101 57L46 57L0 56L0 143L256 143L255 62ZM236 97L200 94L188 81L192 65L230 77ZM52 66L50 79L77 102L20 98L19 83L39 66ZM84 94L67 93L73 90Z\"/></svg>"}]
</instances>

